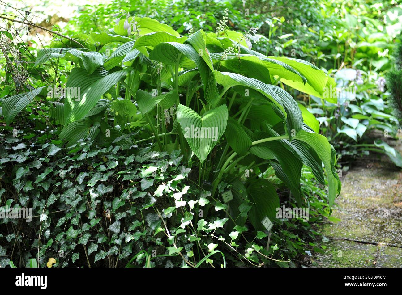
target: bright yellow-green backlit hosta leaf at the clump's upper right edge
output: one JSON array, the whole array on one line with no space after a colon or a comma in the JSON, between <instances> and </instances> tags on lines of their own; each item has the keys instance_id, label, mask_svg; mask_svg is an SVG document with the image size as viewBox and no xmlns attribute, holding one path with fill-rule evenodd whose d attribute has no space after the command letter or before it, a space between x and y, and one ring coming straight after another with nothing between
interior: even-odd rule
<instances>
[{"instance_id":1,"label":"bright yellow-green backlit hosta leaf at the clump's upper right edge","mask_svg":"<svg viewBox=\"0 0 402 295\"><path fill-rule=\"evenodd\" d=\"M334 91L336 89L335 80L324 73L322 70L318 69L318 67L302 59L293 59L284 56L269 56L269 58L276 59L277 61L282 61L283 63L290 65L291 67L299 71L307 79L306 84L288 79L286 77L281 78L281 82L301 92L317 97L322 97L328 102L336 104L336 97L334 98L332 96L322 95L325 89L327 89L327 91ZM281 77L280 73L274 75L279 75L279 77Z\"/></svg>"}]
</instances>

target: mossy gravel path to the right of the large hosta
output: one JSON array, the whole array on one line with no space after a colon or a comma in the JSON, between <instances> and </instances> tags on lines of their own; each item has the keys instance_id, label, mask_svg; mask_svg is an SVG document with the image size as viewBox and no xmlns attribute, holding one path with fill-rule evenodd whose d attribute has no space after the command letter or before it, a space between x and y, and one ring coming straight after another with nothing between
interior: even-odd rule
<instances>
[{"instance_id":1,"label":"mossy gravel path to the right of the large hosta","mask_svg":"<svg viewBox=\"0 0 402 295\"><path fill-rule=\"evenodd\" d=\"M327 238L322 243L327 247L325 254L311 257L310 263L315 267L402 267L402 171L385 157L358 164L344 177L336 199L332 216L340 221L319 229Z\"/></svg>"}]
</instances>

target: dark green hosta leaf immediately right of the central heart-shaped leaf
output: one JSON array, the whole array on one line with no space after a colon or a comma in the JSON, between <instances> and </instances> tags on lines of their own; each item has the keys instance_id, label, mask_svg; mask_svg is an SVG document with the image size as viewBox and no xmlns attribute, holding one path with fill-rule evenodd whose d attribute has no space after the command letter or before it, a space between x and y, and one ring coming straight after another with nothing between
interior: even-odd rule
<instances>
[{"instance_id":1,"label":"dark green hosta leaf immediately right of the central heart-shaped leaf","mask_svg":"<svg viewBox=\"0 0 402 295\"><path fill-rule=\"evenodd\" d=\"M225 138L228 140L230 147L240 156L246 155L251 146L251 140L247 136L242 126L232 117L228 118L226 126Z\"/></svg>"}]
</instances>

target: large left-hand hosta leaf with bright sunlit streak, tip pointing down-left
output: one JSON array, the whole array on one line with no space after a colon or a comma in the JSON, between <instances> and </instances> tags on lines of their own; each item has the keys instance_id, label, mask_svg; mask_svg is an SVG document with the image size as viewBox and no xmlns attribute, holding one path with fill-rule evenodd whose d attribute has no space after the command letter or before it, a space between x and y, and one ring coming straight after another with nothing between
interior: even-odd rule
<instances>
[{"instance_id":1,"label":"large left-hand hosta leaf with bright sunlit streak, tip pointing down-left","mask_svg":"<svg viewBox=\"0 0 402 295\"><path fill-rule=\"evenodd\" d=\"M73 69L66 87L80 87L80 98L65 99L65 123L69 124L83 118L96 105L100 97L123 79L130 70L131 68L126 68L109 73L99 68L94 73L88 74L85 69Z\"/></svg>"}]
</instances>

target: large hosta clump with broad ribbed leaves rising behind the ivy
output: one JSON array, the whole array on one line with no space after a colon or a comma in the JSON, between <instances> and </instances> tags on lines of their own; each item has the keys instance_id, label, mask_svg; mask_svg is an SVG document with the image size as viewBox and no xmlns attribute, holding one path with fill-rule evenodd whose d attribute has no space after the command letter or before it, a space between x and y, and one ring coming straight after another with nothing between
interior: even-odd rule
<instances>
[{"instance_id":1,"label":"large hosta clump with broad ribbed leaves rising behind the ivy","mask_svg":"<svg viewBox=\"0 0 402 295\"><path fill-rule=\"evenodd\" d=\"M341 185L335 150L319 134L314 116L283 89L288 85L335 103L336 97L324 95L334 79L306 61L253 51L254 33L221 25L216 32L180 36L157 20L119 14L108 32L78 34L40 50L37 70L50 61L57 73L62 65L66 83L50 76L40 87L4 99L3 114L12 125L18 112L41 99L65 146L94 140L109 147L124 139L138 149L180 150L199 193L191 200L185 191L174 195L173 207L188 217L179 227L191 221L197 237L204 220L220 211L215 228L224 226L229 247L240 236L246 239L247 225L265 238L265 217L275 226L283 222L275 218L279 197L266 171L288 187L299 207L308 206L300 188L303 167L328 185L329 206ZM160 188L156 197L168 190ZM250 244L243 254L257 261L252 252L261 249Z\"/></svg>"}]
</instances>

